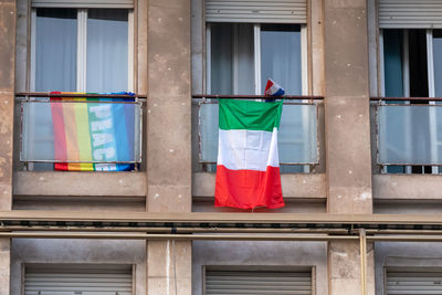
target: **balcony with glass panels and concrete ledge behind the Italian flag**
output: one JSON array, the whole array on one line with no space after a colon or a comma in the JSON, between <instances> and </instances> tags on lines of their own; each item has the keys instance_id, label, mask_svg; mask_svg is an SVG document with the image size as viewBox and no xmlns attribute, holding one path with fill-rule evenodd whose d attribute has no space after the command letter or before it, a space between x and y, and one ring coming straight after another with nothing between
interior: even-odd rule
<instances>
[{"instance_id":1,"label":"balcony with glass panels and concrete ledge behind the Italian flag","mask_svg":"<svg viewBox=\"0 0 442 295\"><path fill-rule=\"evenodd\" d=\"M218 98L269 99L263 95L192 95L193 211L213 211L218 157ZM284 96L278 151L286 212L326 211L324 104L322 96ZM202 169L201 169L202 167ZM206 169L204 169L206 168ZM282 212L285 212L282 210ZM215 210L222 211L222 210Z\"/></svg>"}]
</instances>

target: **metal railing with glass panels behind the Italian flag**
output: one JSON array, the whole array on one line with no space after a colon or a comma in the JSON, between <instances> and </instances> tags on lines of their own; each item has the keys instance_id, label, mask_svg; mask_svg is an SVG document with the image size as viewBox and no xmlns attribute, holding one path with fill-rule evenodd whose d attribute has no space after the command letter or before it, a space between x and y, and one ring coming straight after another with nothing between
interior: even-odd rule
<instances>
[{"instance_id":1,"label":"metal railing with glass panels behind the Italian flag","mask_svg":"<svg viewBox=\"0 0 442 295\"><path fill-rule=\"evenodd\" d=\"M198 106L199 160L215 164L218 157L218 98L227 99L284 99L278 133L281 165L309 165L319 162L318 103L322 96L271 97L264 95L192 95Z\"/></svg>"}]
</instances>

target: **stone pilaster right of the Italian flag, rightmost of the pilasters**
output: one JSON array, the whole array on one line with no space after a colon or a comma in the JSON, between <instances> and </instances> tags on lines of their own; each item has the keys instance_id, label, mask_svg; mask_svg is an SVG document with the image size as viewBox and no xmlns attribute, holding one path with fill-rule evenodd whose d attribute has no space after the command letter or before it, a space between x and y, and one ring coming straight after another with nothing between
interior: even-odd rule
<instances>
[{"instance_id":1,"label":"stone pilaster right of the Italian flag, rightmost of the pilasters","mask_svg":"<svg viewBox=\"0 0 442 295\"><path fill-rule=\"evenodd\" d=\"M371 213L367 0L324 0L325 136L329 213ZM368 245L368 294L375 294ZM328 244L332 295L361 294L359 242Z\"/></svg>"}]
</instances>

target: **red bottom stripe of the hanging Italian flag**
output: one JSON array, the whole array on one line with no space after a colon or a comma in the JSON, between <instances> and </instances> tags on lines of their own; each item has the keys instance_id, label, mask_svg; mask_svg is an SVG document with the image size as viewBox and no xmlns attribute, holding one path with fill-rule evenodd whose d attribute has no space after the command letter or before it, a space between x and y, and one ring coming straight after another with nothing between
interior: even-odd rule
<instances>
[{"instance_id":1,"label":"red bottom stripe of the hanging Italian flag","mask_svg":"<svg viewBox=\"0 0 442 295\"><path fill-rule=\"evenodd\" d=\"M217 166L215 207L270 209L284 207L280 167L269 166L266 171L230 170Z\"/></svg>"}]
</instances>

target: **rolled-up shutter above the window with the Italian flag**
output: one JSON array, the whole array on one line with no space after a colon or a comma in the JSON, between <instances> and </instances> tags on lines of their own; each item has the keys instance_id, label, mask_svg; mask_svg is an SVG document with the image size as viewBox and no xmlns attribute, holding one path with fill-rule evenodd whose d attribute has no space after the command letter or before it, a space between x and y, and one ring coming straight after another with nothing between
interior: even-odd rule
<instances>
[{"instance_id":1,"label":"rolled-up shutter above the window with the Italian flag","mask_svg":"<svg viewBox=\"0 0 442 295\"><path fill-rule=\"evenodd\" d=\"M306 23L306 0L206 0L206 21Z\"/></svg>"}]
</instances>

